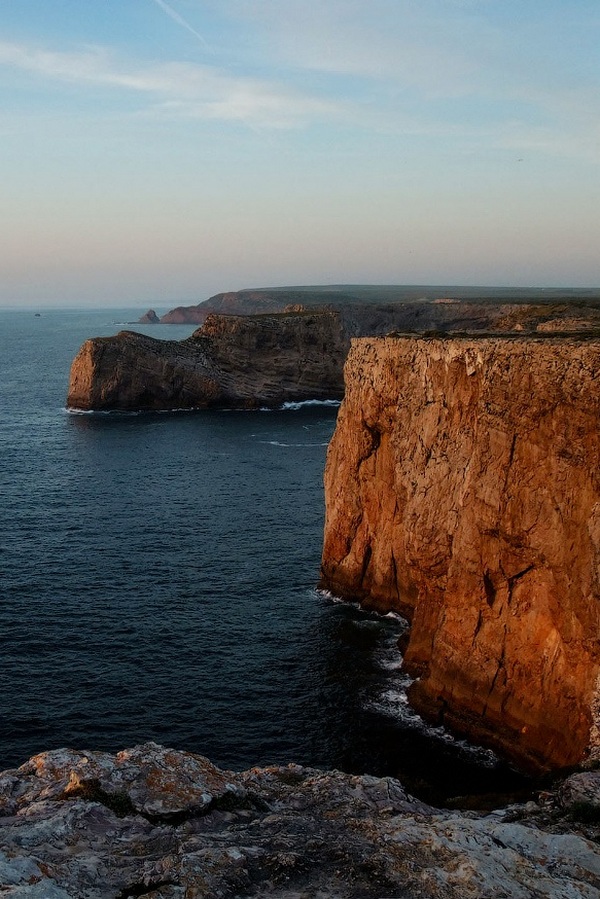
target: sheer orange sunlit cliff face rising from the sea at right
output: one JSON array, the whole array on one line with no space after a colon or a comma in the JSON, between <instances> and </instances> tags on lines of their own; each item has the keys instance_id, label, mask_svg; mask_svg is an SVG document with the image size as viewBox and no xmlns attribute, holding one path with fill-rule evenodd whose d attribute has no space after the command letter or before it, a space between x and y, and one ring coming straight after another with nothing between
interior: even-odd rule
<instances>
[{"instance_id":1,"label":"sheer orange sunlit cliff face rising from the sea at right","mask_svg":"<svg viewBox=\"0 0 600 899\"><path fill-rule=\"evenodd\" d=\"M411 620L410 699L532 770L598 745L600 339L353 342L322 586Z\"/></svg>"}]
</instances>

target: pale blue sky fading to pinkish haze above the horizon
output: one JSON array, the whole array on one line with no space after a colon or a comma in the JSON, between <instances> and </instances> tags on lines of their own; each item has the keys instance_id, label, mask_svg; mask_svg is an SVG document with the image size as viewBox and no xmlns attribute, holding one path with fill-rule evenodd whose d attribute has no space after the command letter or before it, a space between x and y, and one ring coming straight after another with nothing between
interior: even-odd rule
<instances>
[{"instance_id":1,"label":"pale blue sky fading to pinkish haze above the horizon","mask_svg":"<svg viewBox=\"0 0 600 899\"><path fill-rule=\"evenodd\" d=\"M600 286L598 0L2 0L0 304Z\"/></svg>"}]
</instances>

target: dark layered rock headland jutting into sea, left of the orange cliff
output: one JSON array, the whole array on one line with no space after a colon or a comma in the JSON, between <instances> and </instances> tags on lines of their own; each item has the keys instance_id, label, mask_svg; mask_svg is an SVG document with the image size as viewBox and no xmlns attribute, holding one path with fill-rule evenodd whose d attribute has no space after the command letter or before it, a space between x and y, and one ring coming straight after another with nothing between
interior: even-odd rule
<instances>
[{"instance_id":1,"label":"dark layered rock headland jutting into sea, left of the orange cliff","mask_svg":"<svg viewBox=\"0 0 600 899\"><path fill-rule=\"evenodd\" d=\"M349 346L336 313L211 315L182 341L130 331L87 340L72 367L72 409L252 408L343 392Z\"/></svg>"}]
</instances>

